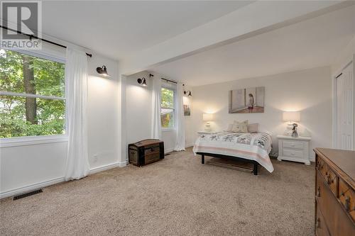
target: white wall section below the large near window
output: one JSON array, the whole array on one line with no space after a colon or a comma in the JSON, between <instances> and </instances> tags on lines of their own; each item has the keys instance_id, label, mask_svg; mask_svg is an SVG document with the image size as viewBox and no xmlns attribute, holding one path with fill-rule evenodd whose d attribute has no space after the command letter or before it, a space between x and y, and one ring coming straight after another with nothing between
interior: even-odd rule
<instances>
[{"instance_id":1,"label":"white wall section below the large near window","mask_svg":"<svg viewBox=\"0 0 355 236\"><path fill-rule=\"evenodd\" d=\"M62 181L66 150L67 142L1 147L0 197Z\"/></svg>"}]
</instances>

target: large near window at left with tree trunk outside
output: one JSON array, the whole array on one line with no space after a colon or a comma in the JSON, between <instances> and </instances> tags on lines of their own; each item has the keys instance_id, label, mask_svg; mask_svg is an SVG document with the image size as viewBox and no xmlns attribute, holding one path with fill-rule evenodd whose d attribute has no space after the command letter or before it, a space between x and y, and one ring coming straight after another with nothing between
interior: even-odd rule
<instances>
[{"instance_id":1,"label":"large near window at left with tree trunk outside","mask_svg":"<svg viewBox=\"0 0 355 236\"><path fill-rule=\"evenodd\" d=\"M0 50L0 138L65 134L65 64Z\"/></svg>"}]
</instances>

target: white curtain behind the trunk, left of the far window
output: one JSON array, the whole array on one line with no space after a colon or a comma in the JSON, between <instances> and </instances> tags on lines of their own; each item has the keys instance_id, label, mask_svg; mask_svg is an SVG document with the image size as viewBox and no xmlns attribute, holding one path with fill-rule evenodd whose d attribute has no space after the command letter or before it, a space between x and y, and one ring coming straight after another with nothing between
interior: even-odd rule
<instances>
[{"instance_id":1,"label":"white curtain behind the trunk, left of the far window","mask_svg":"<svg viewBox=\"0 0 355 236\"><path fill-rule=\"evenodd\" d=\"M160 93L161 79L153 78L152 88L152 133L151 137L161 140L161 121L160 121Z\"/></svg>"}]
</instances>

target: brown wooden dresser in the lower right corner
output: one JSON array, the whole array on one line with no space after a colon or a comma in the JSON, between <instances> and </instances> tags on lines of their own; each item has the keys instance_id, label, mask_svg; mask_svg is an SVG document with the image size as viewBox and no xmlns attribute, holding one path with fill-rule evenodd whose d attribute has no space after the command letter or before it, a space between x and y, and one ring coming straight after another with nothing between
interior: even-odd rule
<instances>
[{"instance_id":1,"label":"brown wooden dresser in the lower right corner","mask_svg":"<svg viewBox=\"0 0 355 236\"><path fill-rule=\"evenodd\" d=\"M315 235L355 235L355 151L316 148Z\"/></svg>"}]
</instances>

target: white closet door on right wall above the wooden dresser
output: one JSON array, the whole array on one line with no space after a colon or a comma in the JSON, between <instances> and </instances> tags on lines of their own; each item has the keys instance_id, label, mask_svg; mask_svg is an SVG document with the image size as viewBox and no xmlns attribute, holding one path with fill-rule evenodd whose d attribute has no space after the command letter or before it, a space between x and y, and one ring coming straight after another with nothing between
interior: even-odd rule
<instances>
[{"instance_id":1,"label":"white closet door on right wall above the wooden dresser","mask_svg":"<svg viewBox=\"0 0 355 236\"><path fill-rule=\"evenodd\" d=\"M353 63L337 77L337 146L354 149L354 69Z\"/></svg>"}]
</instances>

